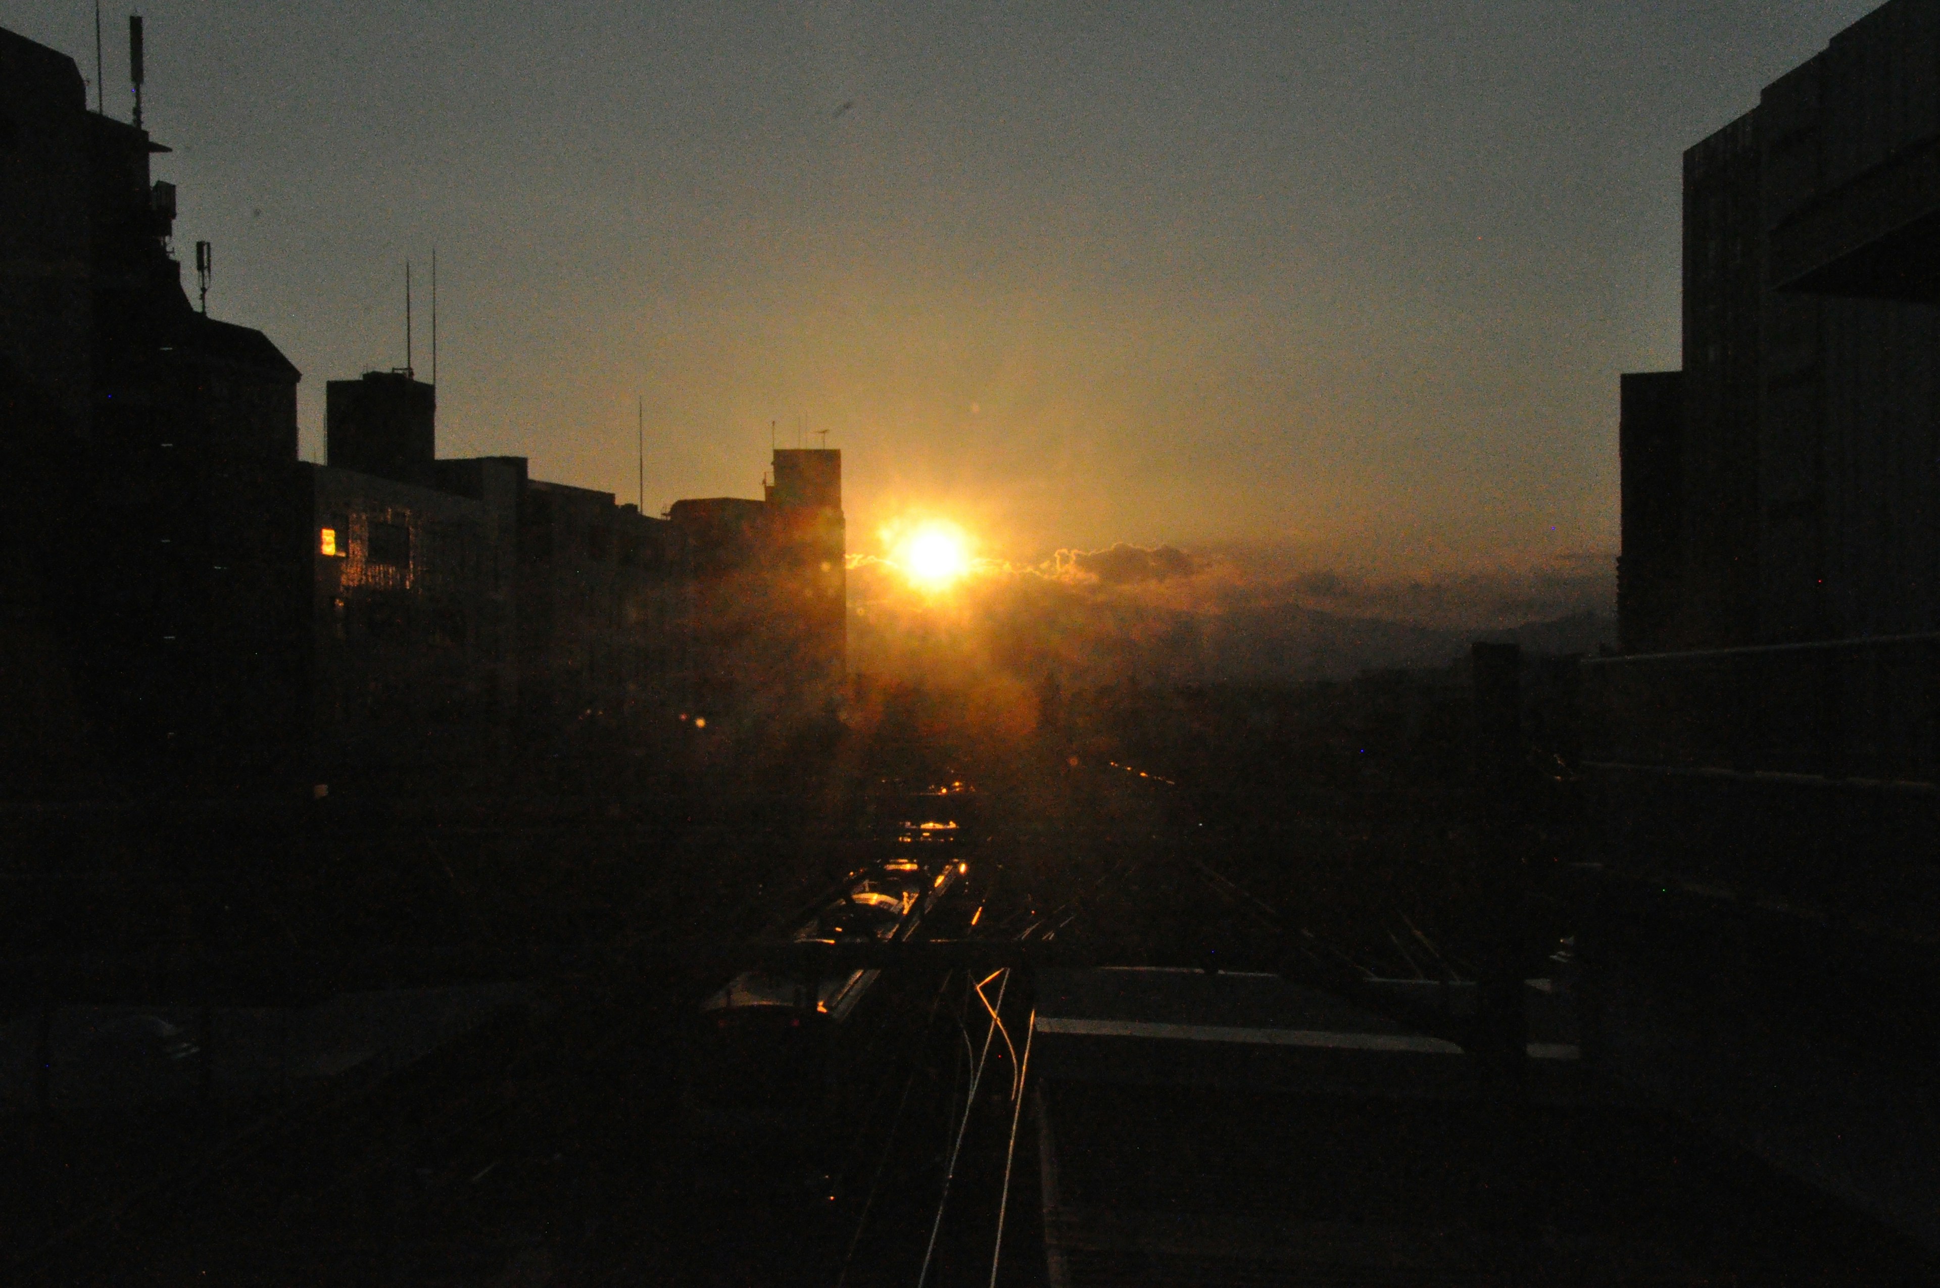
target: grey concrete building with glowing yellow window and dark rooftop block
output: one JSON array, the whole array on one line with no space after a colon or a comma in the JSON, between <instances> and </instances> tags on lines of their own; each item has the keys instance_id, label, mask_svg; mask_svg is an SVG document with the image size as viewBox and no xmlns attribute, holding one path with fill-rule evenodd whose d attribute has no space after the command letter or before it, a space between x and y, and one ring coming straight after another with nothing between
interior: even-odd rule
<instances>
[{"instance_id":1,"label":"grey concrete building with glowing yellow window and dark rooftop block","mask_svg":"<svg viewBox=\"0 0 1940 1288\"><path fill-rule=\"evenodd\" d=\"M343 545L340 564L320 564L318 603L336 617L320 634L318 692L332 696L318 710L320 727L349 722L341 747L431 764L673 720L687 689L673 524L532 479L518 456L438 460L436 390L411 372L332 380L328 452L318 549L334 524ZM388 646L359 632L361 613L376 613Z\"/></svg>"}]
</instances>

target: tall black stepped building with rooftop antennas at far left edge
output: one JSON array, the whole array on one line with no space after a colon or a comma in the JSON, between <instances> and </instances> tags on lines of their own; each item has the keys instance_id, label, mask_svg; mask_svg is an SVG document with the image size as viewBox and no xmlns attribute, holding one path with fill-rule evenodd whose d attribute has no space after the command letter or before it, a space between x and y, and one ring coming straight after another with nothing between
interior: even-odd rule
<instances>
[{"instance_id":1,"label":"tall black stepped building with rooftop antennas at far left edge","mask_svg":"<svg viewBox=\"0 0 1940 1288\"><path fill-rule=\"evenodd\" d=\"M161 151L87 111L72 58L0 31L0 514L21 660L0 671L45 708L10 727L29 778L56 743L74 772L215 743L275 758L301 708L299 376L260 332L190 306Z\"/></svg>"}]
</instances>

